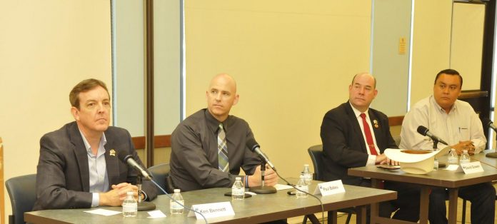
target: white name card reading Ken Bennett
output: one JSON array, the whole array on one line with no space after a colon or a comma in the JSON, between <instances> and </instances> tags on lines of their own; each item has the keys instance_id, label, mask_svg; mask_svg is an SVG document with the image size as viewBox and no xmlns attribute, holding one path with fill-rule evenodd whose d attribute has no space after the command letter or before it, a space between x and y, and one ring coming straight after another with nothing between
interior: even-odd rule
<instances>
[{"instance_id":1,"label":"white name card reading Ken Bennett","mask_svg":"<svg viewBox=\"0 0 497 224\"><path fill-rule=\"evenodd\" d=\"M199 213L202 213L206 218L216 218L228 215L235 215L235 211L233 207L231 207L231 203L229 201L218 202L218 203L207 203L207 204L199 204L199 205L191 205L191 209L196 210ZM199 213L194 213L190 211L188 213L188 217L196 216L197 219L204 219L202 215Z\"/></svg>"}]
</instances>

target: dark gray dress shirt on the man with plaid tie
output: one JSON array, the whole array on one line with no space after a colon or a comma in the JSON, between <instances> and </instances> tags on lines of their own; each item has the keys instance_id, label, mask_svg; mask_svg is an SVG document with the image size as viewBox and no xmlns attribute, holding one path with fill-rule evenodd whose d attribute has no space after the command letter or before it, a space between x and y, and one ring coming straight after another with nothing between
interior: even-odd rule
<instances>
[{"instance_id":1,"label":"dark gray dress shirt on the man with plaid tie","mask_svg":"<svg viewBox=\"0 0 497 224\"><path fill-rule=\"evenodd\" d=\"M260 159L246 147L253 138L249 124L236 116L223 122L228 146L229 173L218 169L219 121L202 109L182 121L171 135L171 178L181 191L231 187L240 168L252 175Z\"/></svg>"}]
</instances>

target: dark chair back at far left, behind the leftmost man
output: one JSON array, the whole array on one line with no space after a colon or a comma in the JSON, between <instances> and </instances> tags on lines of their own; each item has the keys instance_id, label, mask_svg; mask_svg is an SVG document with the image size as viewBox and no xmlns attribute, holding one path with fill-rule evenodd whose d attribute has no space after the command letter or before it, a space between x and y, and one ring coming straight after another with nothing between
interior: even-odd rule
<instances>
[{"instance_id":1,"label":"dark chair back at far left, behind the leftmost man","mask_svg":"<svg viewBox=\"0 0 497 224\"><path fill-rule=\"evenodd\" d=\"M24 222L24 213L33 210L36 200L36 174L21 175L5 181L11 199L12 215L9 224Z\"/></svg>"}]
</instances>

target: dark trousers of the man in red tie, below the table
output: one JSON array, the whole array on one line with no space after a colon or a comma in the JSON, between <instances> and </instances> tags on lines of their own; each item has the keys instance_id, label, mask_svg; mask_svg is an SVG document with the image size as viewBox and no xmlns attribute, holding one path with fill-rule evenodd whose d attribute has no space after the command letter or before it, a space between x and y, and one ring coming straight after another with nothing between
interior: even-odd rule
<instances>
[{"instance_id":1,"label":"dark trousers of the man in red tie, below the table","mask_svg":"<svg viewBox=\"0 0 497 224\"><path fill-rule=\"evenodd\" d=\"M363 179L360 184L363 187L371 187L371 180ZM419 185L412 183L401 183L393 181L385 181L385 190L397 191L397 199L380 203L380 216L386 218L394 218L410 222L419 220L419 200L421 188ZM391 214L393 216L391 216ZM369 208L367 211L366 223L369 223Z\"/></svg>"}]
</instances>

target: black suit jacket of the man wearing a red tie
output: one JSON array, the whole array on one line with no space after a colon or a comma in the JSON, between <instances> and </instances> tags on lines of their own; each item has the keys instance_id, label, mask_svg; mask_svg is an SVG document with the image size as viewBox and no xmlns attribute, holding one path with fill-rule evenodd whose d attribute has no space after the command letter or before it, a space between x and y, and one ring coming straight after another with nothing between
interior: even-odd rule
<instances>
[{"instance_id":1,"label":"black suit jacket of the man wearing a red tie","mask_svg":"<svg viewBox=\"0 0 497 224\"><path fill-rule=\"evenodd\" d=\"M372 108L369 108L368 116L371 124L374 120L378 121L378 128L371 128L380 152L383 153L386 148L397 148L390 133L388 117ZM326 113L321 124L321 141L325 180L342 180L351 185L361 183L361 178L347 175L348 168L366 166L368 161L361 126L350 103L342 103Z\"/></svg>"}]
</instances>

